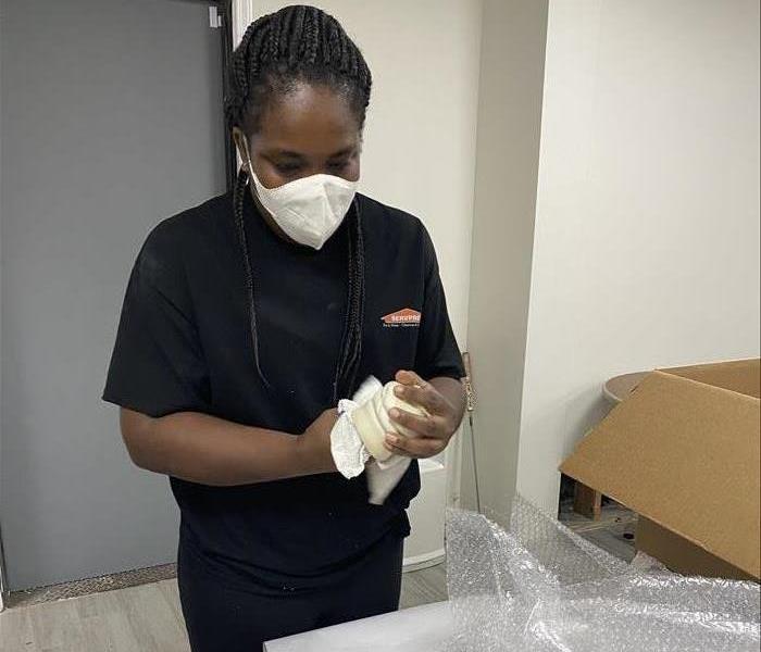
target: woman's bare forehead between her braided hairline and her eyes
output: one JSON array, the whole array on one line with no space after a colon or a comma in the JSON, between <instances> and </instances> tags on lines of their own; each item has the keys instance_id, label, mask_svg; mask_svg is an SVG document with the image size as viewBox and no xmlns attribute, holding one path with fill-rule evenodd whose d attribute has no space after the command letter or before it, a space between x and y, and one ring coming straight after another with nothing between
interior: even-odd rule
<instances>
[{"instance_id":1,"label":"woman's bare forehead between her braided hairline and her eyes","mask_svg":"<svg viewBox=\"0 0 761 652\"><path fill-rule=\"evenodd\" d=\"M273 98L253 140L266 150L330 155L357 143L359 126L346 97L303 84Z\"/></svg>"}]
</instances>

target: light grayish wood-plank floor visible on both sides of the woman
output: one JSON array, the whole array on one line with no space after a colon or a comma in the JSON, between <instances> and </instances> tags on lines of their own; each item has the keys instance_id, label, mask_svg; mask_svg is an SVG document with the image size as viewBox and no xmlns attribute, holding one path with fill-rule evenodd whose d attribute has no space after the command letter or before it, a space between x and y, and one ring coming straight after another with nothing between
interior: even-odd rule
<instances>
[{"instance_id":1,"label":"light grayish wood-plank floor visible on both sides of the woman","mask_svg":"<svg viewBox=\"0 0 761 652\"><path fill-rule=\"evenodd\" d=\"M447 599L445 564L404 573L400 609ZM16 606L0 652L189 652L177 580Z\"/></svg>"}]
</instances>

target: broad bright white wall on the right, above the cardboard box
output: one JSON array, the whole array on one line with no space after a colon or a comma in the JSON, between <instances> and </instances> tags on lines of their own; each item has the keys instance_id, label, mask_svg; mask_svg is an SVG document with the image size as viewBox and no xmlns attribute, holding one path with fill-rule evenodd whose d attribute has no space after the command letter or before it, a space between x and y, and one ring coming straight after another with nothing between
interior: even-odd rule
<instances>
[{"instance_id":1,"label":"broad bright white wall on the right, above the cardboard box","mask_svg":"<svg viewBox=\"0 0 761 652\"><path fill-rule=\"evenodd\" d=\"M606 378L758 353L758 0L550 2L519 489Z\"/></svg>"}]
</instances>

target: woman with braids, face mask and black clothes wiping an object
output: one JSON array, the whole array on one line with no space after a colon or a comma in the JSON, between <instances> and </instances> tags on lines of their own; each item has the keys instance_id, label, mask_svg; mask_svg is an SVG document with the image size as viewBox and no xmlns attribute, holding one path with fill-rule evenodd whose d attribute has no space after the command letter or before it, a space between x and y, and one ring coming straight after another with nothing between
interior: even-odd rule
<instances>
[{"instance_id":1,"label":"woman with braids, face mask and black clothes wiping an object","mask_svg":"<svg viewBox=\"0 0 761 652\"><path fill-rule=\"evenodd\" d=\"M431 238L355 193L371 74L332 16L288 7L233 54L230 193L170 217L127 285L102 398L133 461L170 476L195 652L396 610L416 462L383 504L330 453L339 399L396 378L429 413L389 451L441 452L463 375Z\"/></svg>"}]
</instances>

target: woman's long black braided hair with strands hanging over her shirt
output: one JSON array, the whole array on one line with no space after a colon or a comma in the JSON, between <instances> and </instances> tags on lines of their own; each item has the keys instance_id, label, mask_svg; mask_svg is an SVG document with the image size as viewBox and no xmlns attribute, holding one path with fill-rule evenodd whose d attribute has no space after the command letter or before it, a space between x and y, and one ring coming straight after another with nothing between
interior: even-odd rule
<instances>
[{"instance_id":1,"label":"woman's long black braided hair with strands hanging over her shirt","mask_svg":"<svg viewBox=\"0 0 761 652\"><path fill-rule=\"evenodd\" d=\"M228 129L255 133L267 103L283 97L300 84L325 86L340 93L354 113L360 131L364 126L372 76L359 48L338 21L314 7L286 7L251 23L233 52L228 70L225 118ZM238 171L233 190L233 208L246 269L249 322L257 372L262 372L259 355L255 284L246 230L244 199L249 175ZM353 393L362 356L364 318L364 246L359 206L354 201L347 215L348 299L341 348L333 380L334 403Z\"/></svg>"}]
</instances>

